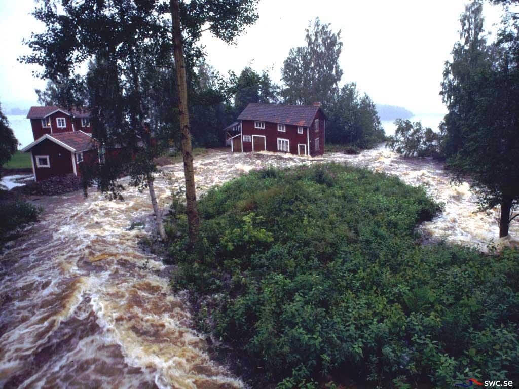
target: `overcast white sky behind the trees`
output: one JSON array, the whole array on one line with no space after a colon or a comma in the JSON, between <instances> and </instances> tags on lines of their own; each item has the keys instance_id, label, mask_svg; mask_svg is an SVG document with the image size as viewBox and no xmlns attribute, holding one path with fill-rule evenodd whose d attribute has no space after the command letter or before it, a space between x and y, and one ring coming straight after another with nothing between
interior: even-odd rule
<instances>
[{"instance_id":1,"label":"overcast white sky behind the trees","mask_svg":"<svg viewBox=\"0 0 519 389\"><path fill-rule=\"evenodd\" d=\"M244 66L270 71L279 81L280 68L291 47L303 45L305 28L319 16L342 30L342 83L355 81L380 104L400 105L415 114L441 114L438 95L445 60L458 38L459 15L466 0L261 0L260 18L228 46L204 36L207 61L220 73L239 73ZM22 44L42 26L30 14L32 0L0 0L0 103L5 108L36 104L36 67L17 58L29 52ZM487 6L486 22L499 20L500 9Z\"/></svg>"}]
</instances>

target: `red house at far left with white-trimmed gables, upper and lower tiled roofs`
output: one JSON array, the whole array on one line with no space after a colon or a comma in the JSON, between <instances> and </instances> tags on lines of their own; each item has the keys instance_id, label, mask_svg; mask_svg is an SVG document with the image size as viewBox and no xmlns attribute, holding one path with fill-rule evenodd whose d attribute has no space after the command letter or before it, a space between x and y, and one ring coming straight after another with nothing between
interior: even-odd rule
<instances>
[{"instance_id":1,"label":"red house at far left with white-trimmed gables, upper and lower tiled roofs","mask_svg":"<svg viewBox=\"0 0 519 389\"><path fill-rule=\"evenodd\" d=\"M31 107L28 119L34 142L22 149L31 153L34 179L80 175L79 165L104 158L104 149L92 139L90 114L84 109Z\"/></svg>"}]
</instances>

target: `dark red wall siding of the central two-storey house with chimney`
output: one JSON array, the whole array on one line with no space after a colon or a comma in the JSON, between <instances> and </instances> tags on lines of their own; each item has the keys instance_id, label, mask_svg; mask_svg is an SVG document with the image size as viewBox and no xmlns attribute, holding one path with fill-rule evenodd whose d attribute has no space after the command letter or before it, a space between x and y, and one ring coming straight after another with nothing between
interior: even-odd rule
<instances>
[{"instance_id":1,"label":"dark red wall siding of the central two-storey house with chimney","mask_svg":"<svg viewBox=\"0 0 519 389\"><path fill-rule=\"evenodd\" d=\"M311 156L324 154L324 115L319 112L315 119L319 119L319 130L315 131L312 126L310 128L304 127L303 134L297 133L297 126L285 125L285 132L278 131L278 123L265 122L265 129L254 128L254 120L242 120L242 136L250 135L251 142L243 142L243 151L252 151L252 135L261 135L266 138L266 150L278 151L278 138L288 139L290 145L290 153L298 155L298 145L306 145L307 154ZM319 150L315 150L315 140L319 138ZM308 147L308 143L310 143ZM308 150L309 148L309 150Z\"/></svg>"}]
</instances>

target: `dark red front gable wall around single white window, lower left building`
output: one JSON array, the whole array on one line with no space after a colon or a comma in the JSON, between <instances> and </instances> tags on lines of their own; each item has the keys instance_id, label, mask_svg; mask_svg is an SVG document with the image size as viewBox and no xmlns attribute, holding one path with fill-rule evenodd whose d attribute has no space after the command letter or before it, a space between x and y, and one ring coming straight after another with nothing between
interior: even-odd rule
<instances>
[{"instance_id":1,"label":"dark red front gable wall around single white window, lower left building","mask_svg":"<svg viewBox=\"0 0 519 389\"><path fill-rule=\"evenodd\" d=\"M74 174L72 152L45 139L31 150L36 180L40 181L53 176ZM36 156L49 156L50 168L38 168Z\"/></svg>"}]
</instances>

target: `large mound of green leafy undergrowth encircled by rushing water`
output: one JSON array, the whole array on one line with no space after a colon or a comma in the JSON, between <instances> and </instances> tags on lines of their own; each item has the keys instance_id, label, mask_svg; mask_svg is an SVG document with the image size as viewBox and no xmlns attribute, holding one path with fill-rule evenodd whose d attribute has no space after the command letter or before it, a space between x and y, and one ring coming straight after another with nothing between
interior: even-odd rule
<instances>
[{"instance_id":1,"label":"large mound of green leafy undergrowth encircled by rushing water","mask_svg":"<svg viewBox=\"0 0 519 389\"><path fill-rule=\"evenodd\" d=\"M338 164L263 169L210 190L199 211L192 251L185 216L169 219L172 283L256 377L279 388L517 379L519 253L422 246L415 227L439 211L424 189Z\"/></svg>"}]
</instances>

